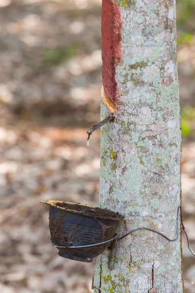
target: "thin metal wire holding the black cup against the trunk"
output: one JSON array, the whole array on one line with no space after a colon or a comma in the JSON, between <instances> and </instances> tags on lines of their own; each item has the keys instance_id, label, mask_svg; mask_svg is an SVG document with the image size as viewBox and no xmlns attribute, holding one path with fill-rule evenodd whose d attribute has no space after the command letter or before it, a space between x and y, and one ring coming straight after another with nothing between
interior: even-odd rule
<instances>
[{"instance_id":1,"label":"thin metal wire holding the black cup against the trunk","mask_svg":"<svg viewBox=\"0 0 195 293\"><path fill-rule=\"evenodd\" d=\"M181 211L181 206L179 206L178 209L177 209L177 235L176 235L176 238L174 238L174 239L170 239L166 235L164 235L164 234L162 234L162 233L160 233L160 232L158 232L156 230L153 230L153 229L150 229L150 228L146 228L146 227L140 227L140 228L136 228L134 230L129 231L128 233L124 234L121 237L117 237L117 234L116 234L113 238L111 238L109 240L106 240L106 241L103 241L103 242L96 243L96 244L82 245L82 246L69 246L69 247L55 245L53 242L51 242L51 244L53 246L57 247L57 248L66 248L66 249L69 249L70 248L71 249L71 248L86 248L86 247L97 246L97 245L101 245L101 244L108 243L108 242L111 242L111 241L115 240L116 249L115 249L115 257L114 257L113 265L112 266L110 265L110 263L111 263L111 257L112 257L112 251L110 253L110 257L109 257L109 261L108 261L108 268L112 271L112 269L114 268L115 262L116 262L116 258L117 258L117 240L121 240L124 237L126 237L126 236L128 236L128 235L130 235L130 234L132 234L132 233L134 233L134 232L136 232L138 230L149 230L149 231L152 231L152 232L154 232L154 233L156 233L156 234L158 234L158 235L166 238L169 241L172 241L172 242L173 241L176 241L178 239L178 237L179 237L179 212L180 211ZM190 248L190 243L189 243L188 235L187 235L187 232L186 232L185 227L183 225L182 211L181 211L180 217L181 217L181 228L182 228L182 230L184 231L184 233L186 235L186 239L187 239L187 242L188 242L188 249L192 252L193 255L195 255L195 252L193 252L191 250L191 248Z\"/></svg>"}]
</instances>

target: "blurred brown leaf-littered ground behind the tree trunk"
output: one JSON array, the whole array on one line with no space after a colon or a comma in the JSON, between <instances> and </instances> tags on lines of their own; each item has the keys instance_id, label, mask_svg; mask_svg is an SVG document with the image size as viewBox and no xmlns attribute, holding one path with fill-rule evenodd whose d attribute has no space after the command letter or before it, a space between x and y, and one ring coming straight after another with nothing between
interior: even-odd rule
<instances>
[{"instance_id":1,"label":"blurred brown leaf-littered ground behind the tree trunk","mask_svg":"<svg viewBox=\"0 0 195 293\"><path fill-rule=\"evenodd\" d=\"M0 0L0 292L90 293L93 264L59 257L48 207L98 205L100 0ZM182 28L183 29L183 28ZM180 28L178 29L180 33ZM181 106L195 106L195 42L178 47ZM183 140L185 226L195 250L195 133ZM183 240L186 293L195 258Z\"/></svg>"}]
</instances>

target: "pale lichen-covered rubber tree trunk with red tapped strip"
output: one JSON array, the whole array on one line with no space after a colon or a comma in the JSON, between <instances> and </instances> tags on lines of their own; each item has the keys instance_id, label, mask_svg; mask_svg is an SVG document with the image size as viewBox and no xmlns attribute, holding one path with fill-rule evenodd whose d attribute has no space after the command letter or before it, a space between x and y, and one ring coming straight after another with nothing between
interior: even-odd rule
<instances>
[{"instance_id":1,"label":"pale lichen-covered rubber tree trunk with red tapped strip","mask_svg":"<svg viewBox=\"0 0 195 293\"><path fill-rule=\"evenodd\" d=\"M125 221L119 236L148 227L176 237L181 131L175 0L103 0L100 207ZM117 110L115 111L115 109ZM113 251L114 252L114 251ZM182 293L180 236L147 230L97 258L94 293Z\"/></svg>"}]
</instances>

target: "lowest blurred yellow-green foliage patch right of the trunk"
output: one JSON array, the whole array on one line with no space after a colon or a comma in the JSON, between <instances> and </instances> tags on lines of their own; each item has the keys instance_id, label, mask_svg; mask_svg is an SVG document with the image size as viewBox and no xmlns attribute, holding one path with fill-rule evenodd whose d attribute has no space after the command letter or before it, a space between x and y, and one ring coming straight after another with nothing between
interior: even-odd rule
<instances>
[{"instance_id":1,"label":"lowest blurred yellow-green foliage patch right of the trunk","mask_svg":"<svg viewBox=\"0 0 195 293\"><path fill-rule=\"evenodd\" d=\"M186 105L181 110L181 131L183 136L190 136L192 133L192 122L195 120L195 108Z\"/></svg>"}]
</instances>

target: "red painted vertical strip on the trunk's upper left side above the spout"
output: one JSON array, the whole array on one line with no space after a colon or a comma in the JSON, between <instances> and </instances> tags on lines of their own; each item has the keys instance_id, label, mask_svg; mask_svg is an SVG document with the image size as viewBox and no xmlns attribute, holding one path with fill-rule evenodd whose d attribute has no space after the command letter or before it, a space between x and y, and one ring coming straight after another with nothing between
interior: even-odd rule
<instances>
[{"instance_id":1,"label":"red painted vertical strip on the trunk's upper left side above the spout","mask_svg":"<svg viewBox=\"0 0 195 293\"><path fill-rule=\"evenodd\" d=\"M112 0L102 0L102 79L107 103L115 109L119 95L115 69L122 55L121 28L122 21L117 5Z\"/></svg>"}]
</instances>

